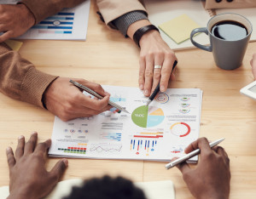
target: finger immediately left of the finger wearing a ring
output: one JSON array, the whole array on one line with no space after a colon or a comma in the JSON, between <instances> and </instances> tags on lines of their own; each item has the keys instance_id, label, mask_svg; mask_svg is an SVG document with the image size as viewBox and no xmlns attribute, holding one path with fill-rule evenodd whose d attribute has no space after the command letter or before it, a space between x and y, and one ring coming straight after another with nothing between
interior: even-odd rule
<instances>
[{"instance_id":1,"label":"finger immediately left of the finger wearing a ring","mask_svg":"<svg viewBox=\"0 0 256 199\"><path fill-rule=\"evenodd\" d=\"M145 70L145 85L144 85L144 95L149 96L152 89L153 83L153 69L154 69L154 57L153 54L149 54L146 57L146 70Z\"/></svg>"}]
</instances>

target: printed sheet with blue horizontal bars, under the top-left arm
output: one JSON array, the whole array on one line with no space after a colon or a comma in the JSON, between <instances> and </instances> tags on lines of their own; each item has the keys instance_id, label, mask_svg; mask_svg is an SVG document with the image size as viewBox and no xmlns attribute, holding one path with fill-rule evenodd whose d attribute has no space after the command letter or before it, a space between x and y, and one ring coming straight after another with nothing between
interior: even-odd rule
<instances>
[{"instance_id":1,"label":"printed sheet with blue horizontal bars, under the top-left arm","mask_svg":"<svg viewBox=\"0 0 256 199\"><path fill-rule=\"evenodd\" d=\"M90 0L73 9L63 9L26 31L18 39L85 40L90 12Z\"/></svg>"}]
</instances>

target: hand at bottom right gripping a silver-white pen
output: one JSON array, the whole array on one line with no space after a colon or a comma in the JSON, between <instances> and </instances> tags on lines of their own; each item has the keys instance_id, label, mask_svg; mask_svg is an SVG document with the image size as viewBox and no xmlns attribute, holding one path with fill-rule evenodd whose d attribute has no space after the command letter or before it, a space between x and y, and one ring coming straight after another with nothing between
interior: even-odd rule
<instances>
[{"instance_id":1,"label":"hand at bottom right gripping a silver-white pen","mask_svg":"<svg viewBox=\"0 0 256 199\"><path fill-rule=\"evenodd\" d=\"M201 160L196 168L184 162L177 165L193 196L197 199L227 199L230 195L230 159L224 148L212 149L206 138L191 143L185 152L201 149Z\"/></svg>"}]
</instances>

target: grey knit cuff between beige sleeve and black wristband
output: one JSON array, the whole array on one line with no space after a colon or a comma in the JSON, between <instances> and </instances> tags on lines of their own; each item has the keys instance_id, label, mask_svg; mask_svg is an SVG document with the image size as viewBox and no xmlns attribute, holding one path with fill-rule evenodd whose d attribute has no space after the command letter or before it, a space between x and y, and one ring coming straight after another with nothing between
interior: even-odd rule
<instances>
[{"instance_id":1,"label":"grey knit cuff between beige sleeve and black wristband","mask_svg":"<svg viewBox=\"0 0 256 199\"><path fill-rule=\"evenodd\" d=\"M127 37L128 27L137 20L148 20L148 15L141 10L136 10L123 14L112 22L113 26L115 26L125 37Z\"/></svg>"}]
</instances>

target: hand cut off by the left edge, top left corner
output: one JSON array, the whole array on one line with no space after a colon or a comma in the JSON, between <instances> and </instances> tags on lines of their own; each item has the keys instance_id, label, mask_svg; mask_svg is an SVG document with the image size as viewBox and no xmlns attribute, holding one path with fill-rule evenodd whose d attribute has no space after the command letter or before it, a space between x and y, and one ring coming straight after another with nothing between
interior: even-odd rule
<instances>
[{"instance_id":1,"label":"hand cut off by the left edge, top left corner","mask_svg":"<svg viewBox=\"0 0 256 199\"><path fill-rule=\"evenodd\" d=\"M35 21L32 12L22 3L0 5L0 32L3 32L0 43L22 35L35 24Z\"/></svg>"}]
</instances>

